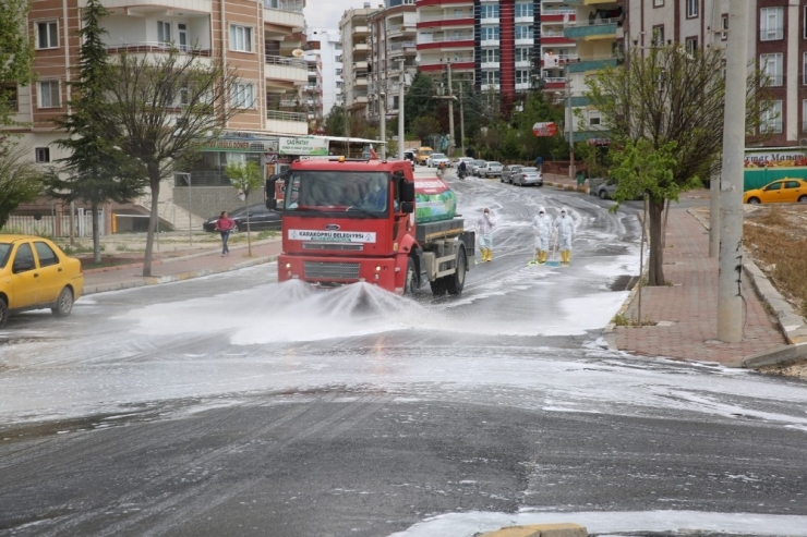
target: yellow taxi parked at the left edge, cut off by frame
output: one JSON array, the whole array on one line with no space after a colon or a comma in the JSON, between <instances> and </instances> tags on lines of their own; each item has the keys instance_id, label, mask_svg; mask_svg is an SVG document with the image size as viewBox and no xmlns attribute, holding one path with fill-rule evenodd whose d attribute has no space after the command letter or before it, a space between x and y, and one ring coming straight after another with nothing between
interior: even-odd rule
<instances>
[{"instance_id":1,"label":"yellow taxi parked at the left edge, cut off by frame","mask_svg":"<svg viewBox=\"0 0 807 537\"><path fill-rule=\"evenodd\" d=\"M50 308L65 317L82 291L79 259L41 236L0 235L0 327L29 309Z\"/></svg>"}]
</instances>

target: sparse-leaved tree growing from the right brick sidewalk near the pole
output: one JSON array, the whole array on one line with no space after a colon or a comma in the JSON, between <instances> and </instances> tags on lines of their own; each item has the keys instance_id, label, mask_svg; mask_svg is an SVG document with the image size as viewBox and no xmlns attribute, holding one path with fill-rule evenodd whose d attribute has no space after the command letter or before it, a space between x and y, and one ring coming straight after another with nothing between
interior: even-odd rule
<instances>
[{"instance_id":1,"label":"sparse-leaved tree growing from the right brick sidewalk near the pole","mask_svg":"<svg viewBox=\"0 0 807 537\"><path fill-rule=\"evenodd\" d=\"M725 96L722 73L723 51L720 48L688 51L675 44L649 50L633 49L623 65L606 68L587 80L585 96L602 112L603 126L610 130L611 145L616 148L612 150L612 158L618 160L613 152L635 147L640 139L646 139L650 143L649 150L661 151L661 161L673 162L670 180L646 190L651 242L649 285L666 283L660 247L665 204L677 200L680 192L696 187L701 179L719 172ZM770 101L760 93L764 86L762 74L749 75L746 89L749 130L759 125L761 112L770 107ZM669 159L663 151L670 151ZM654 173L646 176L666 178ZM635 187L625 185L623 192L635 192Z\"/></svg>"}]
</instances>

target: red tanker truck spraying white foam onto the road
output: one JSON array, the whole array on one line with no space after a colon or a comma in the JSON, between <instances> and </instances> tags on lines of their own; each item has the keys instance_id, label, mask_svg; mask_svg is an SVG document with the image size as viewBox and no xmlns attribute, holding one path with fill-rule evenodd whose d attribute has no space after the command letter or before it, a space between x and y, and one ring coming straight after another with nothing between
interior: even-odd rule
<instances>
[{"instance_id":1,"label":"red tanker truck spraying white foam onto the road","mask_svg":"<svg viewBox=\"0 0 807 537\"><path fill-rule=\"evenodd\" d=\"M266 206L282 211L278 280L459 294L475 234L456 199L441 179L415 181L406 160L297 160L266 182Z\"/></svg>"}]
</instances>

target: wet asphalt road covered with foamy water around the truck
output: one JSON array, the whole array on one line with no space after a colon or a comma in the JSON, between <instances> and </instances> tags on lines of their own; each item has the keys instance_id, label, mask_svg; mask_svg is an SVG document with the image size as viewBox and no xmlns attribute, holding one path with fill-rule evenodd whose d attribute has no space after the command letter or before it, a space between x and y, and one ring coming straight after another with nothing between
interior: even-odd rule
<instances>
[{"instance_id":1,"label":"wet asphalt road covered with foamy water around the truck","mask_svg":"<svg viewBox=\"0 0 807 537\"><path fill-rule=\"evenodd\" d=\"M0 535L376 536L525 510L807 527L804 383L604 349L635 208L454 186L501 221L459 298L312 292L270 265L12 319ZM576 219L568 269L527 265L539 206Z\"/></svg>"}]
</instances>

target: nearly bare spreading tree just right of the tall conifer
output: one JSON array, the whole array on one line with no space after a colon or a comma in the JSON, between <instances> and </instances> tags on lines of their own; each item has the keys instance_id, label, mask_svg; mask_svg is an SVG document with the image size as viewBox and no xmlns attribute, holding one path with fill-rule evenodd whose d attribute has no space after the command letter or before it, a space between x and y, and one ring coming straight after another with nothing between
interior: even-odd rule
<instances>
[{"instance_id":1,"label":"nearly bare spreading tree just right of the tall conifer","mask_svg":"<svg viewBox=\"0 0 807 537\"><path fill-rule=\"evenodd\" d=\"M150 191L145 277L152 276L160 183L181 172L241 107L254 105L234 91L241 81L233 69L192 52L121 53L109 62L104 132L145 168Z\"/></svg>"}]
</instances>

